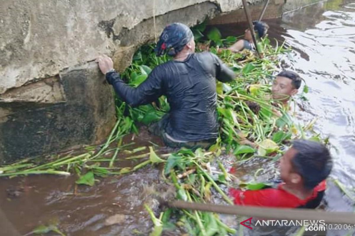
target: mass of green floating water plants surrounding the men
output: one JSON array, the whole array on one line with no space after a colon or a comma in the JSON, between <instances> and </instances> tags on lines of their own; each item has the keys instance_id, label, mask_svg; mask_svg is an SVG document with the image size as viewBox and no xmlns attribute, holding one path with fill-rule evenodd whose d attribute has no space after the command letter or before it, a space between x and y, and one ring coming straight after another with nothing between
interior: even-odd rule
<instances>
[{"instance_id":1,"label":"mass of green floating water plants surrounding the men","mask_svg":"<svg viewBox=\"0 0 355 236\"><path fill-rule=\"evenodd\" d=\"M204 25L193 29L195 39L201 39ZM93 186L100 177L112 174L127 174L147 165L163 165L162 177L176 188L176 198L189 202L212 202L212 193L217 194L226 204L233 204L222 186L228 186L234 175L226 171L218 162L218 169L211 169L216 157L233 154L236 161L248 160L255 156L278 160L290 140L294 138L310 138L321 142L319 134L312 131L315 121L299 124L289 114L289 107L272 100L271 81L281 70L278 55L289 50L284 45L272 46L269 39L259 42L262 57L258 58L250 51L231 53L228 50L218 51L219 47L233 44L237 38L222 39L217 29L207 34L207 41L200 42L199 48L208 48L236 73L236 79L228 84L217 82L217 113L220 127L217 143L209 150L181 149L169 154L157 154L153 146L130 149L130 144L122 145L122 138L131 132L138 133L138 124L149 125L158 121L169 111L166 97L162 96L149 105L132 108L115 98L117 122L106 143L98 147L88 146L84 153L65 156L52 156L41 163L38 159L25 159L12 165L0 167L1 176L18 176L29 174L70 175L76 173L76 184ZM122 73L122 79L133 87L140 85L159 64L169 61L168 56L157 57L154 45L140 48L133 57L132 65ZM308 90L305 87L303 93ZM301 94L304 96L304 94ZM245 141L248 141L245 143ZM248 145L246 145L248 144ZM146 150L149 148L149 152ZM138 152L146 153L137 154ZM122 158L122 154L125 158ZM135 166L122 167L124 160L139 161ZM263 169L255 172L255 179ZM260 189L267 183L241 183L241 188ZM200 211L166 209L159 217L155 217L152 209L145 205L151 216L154 229L152 236L160 235L163 230L174 227L181 228L189 235L228 235L235 234L236 229L224 224L218 214ZM171 218L174 216L174 223ZM42 228L41 228L42 229ZM41 229L38 229L39 232ZM56 228L43 228L44 231L56 231ZM303 230L303 229L302 229ZM36 231L36 232L37 232ZM41 231L42 232L42 231ZM33 231L35 233L35 231ZM242 232L240 232L241 234ZM303 232L299 232L302 234Z\"/></svg>"}]
</instances>

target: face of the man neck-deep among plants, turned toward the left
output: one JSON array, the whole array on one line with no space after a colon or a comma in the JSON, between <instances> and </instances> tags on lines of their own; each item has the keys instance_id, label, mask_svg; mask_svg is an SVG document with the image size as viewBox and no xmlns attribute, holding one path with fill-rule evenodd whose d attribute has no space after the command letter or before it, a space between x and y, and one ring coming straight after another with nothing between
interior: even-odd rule
<instances>
[{"instance_id":1,"label":"face of the man neck-deep among plants, turned toward the left","mask_svg":"<svg viewBox=\"0 0 355 236\"><path fill-rule=\"evenodd\" d=\"M278 100L288 100L298 92L298 90L293 87L292 80L282 76L276 76L271 91L272 98Z\"/></svg>"}]
</instances>

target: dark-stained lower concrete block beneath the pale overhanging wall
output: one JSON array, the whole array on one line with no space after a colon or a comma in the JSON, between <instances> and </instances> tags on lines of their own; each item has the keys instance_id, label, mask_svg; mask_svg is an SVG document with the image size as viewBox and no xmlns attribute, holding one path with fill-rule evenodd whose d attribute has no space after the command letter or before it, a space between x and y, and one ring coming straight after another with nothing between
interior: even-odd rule
<instances>
[{"instance_id":1,"label":"dark-stained lower concrete block beneath the pale overhanging wall","mask_svg":"<svg viewBox=\"0 0 355 236\"><path fill-rule=\"evenodd\" d=\"M36 97L0 102L0 160L8 163L103 140L115 123L113 93L103 81L97 64L91 62L17 88L31 90L38 83L50 82L43 87L55 91L60 83L62 93L57 95L63 96L55 103L37 102Z\"/></svg>"}]
</instances>

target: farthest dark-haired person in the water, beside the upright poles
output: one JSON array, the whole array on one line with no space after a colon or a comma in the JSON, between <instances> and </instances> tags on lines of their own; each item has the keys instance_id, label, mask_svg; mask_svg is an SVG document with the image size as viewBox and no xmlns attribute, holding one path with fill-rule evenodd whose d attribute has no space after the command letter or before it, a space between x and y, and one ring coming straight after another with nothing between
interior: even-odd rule
<instances>
[{"instance_id":1,"label":"farthest dark-haired person in the water, beside the upright poles","mask_svg":"<svg viewBox=\"0 0 355 236\"><path fill-rule=\"evenodd\" d=\"M254 25L254 30L256 32L255 35L259 39L263 38L269 29L269 26L265 22L262 22L262 21L254 21L253 25ZM233 44L232 46L230 46L227 49L232 52L239 52L244 49L255 50L254 42L253 42L250 30L246 29L244 39L238 40L237 42L235 42L235 44Z\"/></svg>"}]
</instances>

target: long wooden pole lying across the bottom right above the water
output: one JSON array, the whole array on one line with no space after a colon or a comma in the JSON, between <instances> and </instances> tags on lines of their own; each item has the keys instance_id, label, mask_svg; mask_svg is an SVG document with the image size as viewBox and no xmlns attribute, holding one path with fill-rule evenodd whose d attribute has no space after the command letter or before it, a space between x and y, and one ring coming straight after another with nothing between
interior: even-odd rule
<instances>
[{"instance_id":1,"label":"long wooden pole lying across the bottom right above the water","mask_svg":"<svg viewBox=\"0 0 355 236\"><path fill-rule=\"evenodd\" d=\"M172 208L243 215L276 220L324 220L326 223L351 224L355 228L355 213L326 212L314 209L288 209L273 207L252 207L236 205L214 205L197 202L172 201L166 205Z\"/></svg>"}]
</instances>

